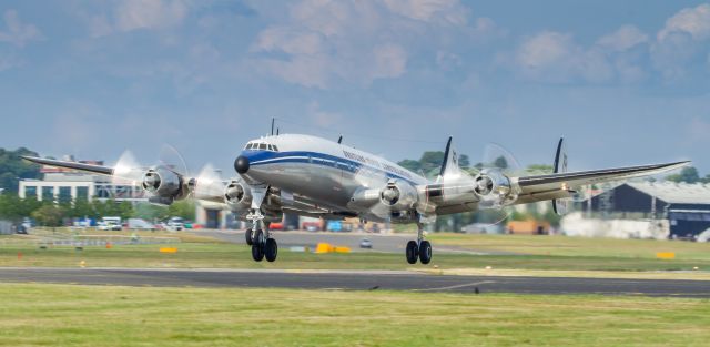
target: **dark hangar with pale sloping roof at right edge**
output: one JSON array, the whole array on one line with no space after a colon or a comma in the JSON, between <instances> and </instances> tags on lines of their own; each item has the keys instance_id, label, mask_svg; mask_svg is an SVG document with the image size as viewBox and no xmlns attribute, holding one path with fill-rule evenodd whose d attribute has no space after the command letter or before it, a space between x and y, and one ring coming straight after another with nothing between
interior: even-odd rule
<instances>
[{"instance_id":1,"label":"dark hangar with pale sloping roof at right edge","mask_svg":"<svg viewBox=\"0 0 710 347\"><path fill-rule=\"evenodd\" d=\"M670 237L693 237L710 228L710 184L629 182L584 202L607 217L667 220Z\"/></svg>"}]
</instances>

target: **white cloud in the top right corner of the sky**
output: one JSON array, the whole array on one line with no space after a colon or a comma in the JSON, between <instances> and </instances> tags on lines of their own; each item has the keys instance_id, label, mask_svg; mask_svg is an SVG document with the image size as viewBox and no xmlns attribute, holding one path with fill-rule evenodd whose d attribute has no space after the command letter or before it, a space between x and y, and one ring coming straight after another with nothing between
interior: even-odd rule
<instances>
[{"instance_id":1,"label":"white cloud in the top right corner of the sky","mask_svg":"<svg viewBox=\"0 0 710 347\"><path fill-rule=\"evenodd\" d=\"M710 37L710 4L682 9L666 21L666 27L658 32L658 40L663 41L673 33L687 33L696 40Z\"/></svg>"}]
</instances>

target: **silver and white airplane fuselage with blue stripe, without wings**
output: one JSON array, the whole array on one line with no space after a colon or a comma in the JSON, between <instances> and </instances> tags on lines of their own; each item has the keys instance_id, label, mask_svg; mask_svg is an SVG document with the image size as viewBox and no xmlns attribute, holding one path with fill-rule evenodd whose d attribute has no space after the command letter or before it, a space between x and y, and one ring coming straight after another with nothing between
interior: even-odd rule
<instances>
[{"instance_id":1,"label":"silver and white airplane fuselage with blue stripe, without wings","mask_svg":"<svg viewBox=\"0 0 710 347\"><path fill-rule=\"evenodd\" d=\"M276 186L339 211L349 210L357 190L375 188L387 180L414 187L429 183L377 155L315 136L284 134L250 143L268 143L277 151L242 151L250 162L248 172L242 174L248 184Z\"/></svg>"}]
</instances>

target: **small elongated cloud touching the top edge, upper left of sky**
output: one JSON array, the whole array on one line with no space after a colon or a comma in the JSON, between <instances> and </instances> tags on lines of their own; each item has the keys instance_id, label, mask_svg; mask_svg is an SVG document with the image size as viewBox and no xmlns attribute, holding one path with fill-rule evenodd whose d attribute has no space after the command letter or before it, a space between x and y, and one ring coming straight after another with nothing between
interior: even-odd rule
<instances>
[{"instance_id":1,"label":"small elongated cloud touching the top edge, upper left of sky","mask_svg":"<svg viewBox=\"0 0 710 347\"><path fill-rule=\"evenodd\" d=\"M187 14L182 0L124 0L115 2L110 13L88 19L91 37L99 38L115 32L139 29L165 29L179 25Z\"/></svg>"}]
</instances>

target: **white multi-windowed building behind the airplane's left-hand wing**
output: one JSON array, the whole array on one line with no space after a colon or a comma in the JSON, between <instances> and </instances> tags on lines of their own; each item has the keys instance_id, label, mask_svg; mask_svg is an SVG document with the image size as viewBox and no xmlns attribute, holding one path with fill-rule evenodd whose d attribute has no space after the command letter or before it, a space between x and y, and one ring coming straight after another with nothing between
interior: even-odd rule
<instances>
[{"instance_id":1,"label":"white multi-windowed building behind the airplane's left-hand wing","mask_svg":"<svg viewBox=\"0 0 710 347\"><path fill-rule=\"evenodd\" d=\"M74 161L69 156L64 160ZM101 161L80 161L84 164L103 165ZM58 203L75 200L146 201L143 190L131 185L114 184L111 177L81 173L73 170L42 166L42 180L20 180L18 195L39 201Z\"/></svg>"}]
</instances>

